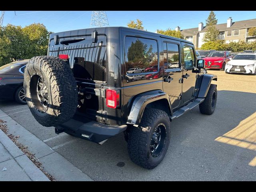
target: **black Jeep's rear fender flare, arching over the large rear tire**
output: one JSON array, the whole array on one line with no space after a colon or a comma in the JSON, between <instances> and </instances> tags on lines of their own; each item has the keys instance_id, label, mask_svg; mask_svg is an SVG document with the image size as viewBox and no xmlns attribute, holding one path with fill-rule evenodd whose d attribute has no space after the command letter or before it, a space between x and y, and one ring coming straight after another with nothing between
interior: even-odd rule
<instances>
[{"instance_id":1,"label":"black Jeep's rear fender flare, arching over the large rear tire","mask_svg":"<svg viewBox=\"0 0 256 192\"><path fill-rule=\"evenodd\" d=\"M169 96L166 92L163 92L162 90L153 90L153 91L148 91L148 92L144 92L142 94L137 95L132 102L127 124L133 124L133 125L140 124L140 121L142 119L142 115L146 106L151 102L161 100L161 99L167 100L170 111L172 112Z\"/></svg>"}]
</instances>

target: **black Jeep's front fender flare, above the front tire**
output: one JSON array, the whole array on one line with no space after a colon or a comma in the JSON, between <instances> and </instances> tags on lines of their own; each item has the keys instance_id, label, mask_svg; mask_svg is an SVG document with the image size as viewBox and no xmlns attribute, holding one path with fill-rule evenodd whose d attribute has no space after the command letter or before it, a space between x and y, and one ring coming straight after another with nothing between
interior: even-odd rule
<instances>
[{"instance_id":1,"label":"black Jeep's front fender flare, above the front tire","mask_svg":"<svg viewBox=\"0 0 256 192\"><path fill-rule=\"evenodd\" d=\"M217 81L217 76L213 74L203 74L198 97L205 98L210 88L212 80Z\"/></svg>"}]
</instances>

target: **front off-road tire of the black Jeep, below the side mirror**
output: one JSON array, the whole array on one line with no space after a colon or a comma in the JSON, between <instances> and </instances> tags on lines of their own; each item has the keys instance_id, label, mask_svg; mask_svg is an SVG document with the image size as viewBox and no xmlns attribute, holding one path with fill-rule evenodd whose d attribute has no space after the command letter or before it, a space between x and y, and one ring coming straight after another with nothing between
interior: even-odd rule
<instances>
[{"instance_id":1,"label":"front off-road tire of the black Jeep, below the side mirror","mask_svg":"<svg viewBox=\"0 0 256 192\"><path fill-rule=\"evenodd\" d=\"M211 115L216 108L217 102L217 86L214 84L210 85L204 102L199 105L200 112L202 114Z\"/></svg>"}]
</instances>

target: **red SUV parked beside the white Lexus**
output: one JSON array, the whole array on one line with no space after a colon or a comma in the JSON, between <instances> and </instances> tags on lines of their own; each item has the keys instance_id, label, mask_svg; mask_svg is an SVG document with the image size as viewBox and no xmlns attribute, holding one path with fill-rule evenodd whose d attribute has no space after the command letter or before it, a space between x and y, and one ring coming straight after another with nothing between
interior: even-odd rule
<instances>
[{"instance_id":1,"label":"red SUV parked beside the white Lexus","mask_svg":"<svg viewBox=\"0 0 256 192\"><path fill-rule=\"evenodd\" d=\"M230 58L233 58L229 51L214 51L208 54L205 61L205 68L206 69L220 69L224 70L225 65Z\"/></svg>"}]
</instances>

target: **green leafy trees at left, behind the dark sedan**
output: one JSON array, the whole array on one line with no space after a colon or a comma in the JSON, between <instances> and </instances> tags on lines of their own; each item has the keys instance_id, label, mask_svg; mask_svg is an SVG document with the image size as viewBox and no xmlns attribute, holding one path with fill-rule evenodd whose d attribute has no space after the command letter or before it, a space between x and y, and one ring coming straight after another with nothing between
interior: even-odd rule
<instances>
[{"instance_id":1,"label":"green leafy trees at left, behind the dark sedan","mask_svg":"<svg viewBox=\"0 0 256 192\"><path fill-rule=\"evenodd\" d=\"M22 28L8 24L0 29L0 66L18 59L46 55L49 32L43 24Z\"/></svg>"}]
</instances>

